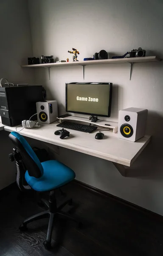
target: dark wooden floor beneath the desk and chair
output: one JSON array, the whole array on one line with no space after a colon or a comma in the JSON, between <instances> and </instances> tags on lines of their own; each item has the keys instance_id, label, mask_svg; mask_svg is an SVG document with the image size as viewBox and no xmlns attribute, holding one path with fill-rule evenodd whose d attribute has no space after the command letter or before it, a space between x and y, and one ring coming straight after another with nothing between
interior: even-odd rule
<instances>
[{"instance_id":1,"label":"dark wooden floor beneath the desk and chair","mask_svg":"<svg viewBox=\"0 0 163 256\"><path fill-rule=\"evenodd\" d=\"M47 219L29 224L27 232L18 229L24 218L42 211L34 194L18 200L15 185L0 193L0 256L163 256L163 221L76 183L64 191L74 199L73 214L84 226L78 229L74 223L57 221L52 241L57 246L50 252L42 245ZM59 192L57 198L61 200Z\"/></svg>"}]
</instances>

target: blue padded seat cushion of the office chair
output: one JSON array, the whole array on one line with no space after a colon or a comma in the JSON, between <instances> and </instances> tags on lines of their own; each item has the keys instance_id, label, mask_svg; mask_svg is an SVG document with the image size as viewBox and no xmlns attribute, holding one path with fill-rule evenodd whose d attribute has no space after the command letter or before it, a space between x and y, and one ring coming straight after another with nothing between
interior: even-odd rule
<instances>
[{"instance_id":1,"label":"blue padded seat cushion of the office chair","mask_svg":"<svg viewBox=\"0 0 163 256\"><path fill-rule=\"evenodd\" d=\"M25 172L25 180L32 189L45 192L59 188L75 178L75 172L57 160L42 162L44 174L40 178L29 176Z\"/></svg>"}]
</instances>

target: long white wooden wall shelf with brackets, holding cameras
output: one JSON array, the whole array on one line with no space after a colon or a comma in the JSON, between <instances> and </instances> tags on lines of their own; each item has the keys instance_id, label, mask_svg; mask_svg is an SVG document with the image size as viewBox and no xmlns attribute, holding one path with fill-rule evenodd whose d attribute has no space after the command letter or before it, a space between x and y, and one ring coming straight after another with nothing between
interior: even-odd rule
<instances>
[{"instance_id":1,"label":"long white wooden wall shelf with brackets, holding cameras","mask_svg":"<svg viewBox=\"0 0 163 256\"><path fill-rule=\"evenodd\" d=\"M73 61L73 62L60 62L60 63L48 63L48 64L34 64L34 65L22 65L22 67L28 68L38 68L44 67L49 70L49 79L50 79L50 68L51 67L61 67L61 66L76 66L80 65L83 67L83 79L85 73L86 65L94 65L94 64L116 64L116 63L129 63L130 65L130 74L129 79L131 80L133 64L137 62L156 62L161 61L160 58L156 56L149 57L139 57L139 58L117 58L117 59L107 59L107 60L93 60L93 61Z\"/></svg>"}]
</instances>

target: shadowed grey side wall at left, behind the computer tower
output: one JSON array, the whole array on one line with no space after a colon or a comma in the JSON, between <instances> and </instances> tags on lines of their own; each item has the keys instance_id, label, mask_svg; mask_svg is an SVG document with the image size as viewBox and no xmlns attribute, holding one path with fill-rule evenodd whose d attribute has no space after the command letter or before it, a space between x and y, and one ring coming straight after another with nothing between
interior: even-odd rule
<instances>
[{"instance_id":1,"label":"shadowed grey side wall at left, behind the computer tower","mask_svg":"<svg viewBox=\"0 0 163 256\"><path fill-rule=\"evenodd\" d=\"M34 84L34 73L22 69L32 54L27 0L0 1L0 78L9 82ZM8 154L12 151L8 133L0 132L0 189L15 181L15 163Z\"/></svg>"}]
</instances>

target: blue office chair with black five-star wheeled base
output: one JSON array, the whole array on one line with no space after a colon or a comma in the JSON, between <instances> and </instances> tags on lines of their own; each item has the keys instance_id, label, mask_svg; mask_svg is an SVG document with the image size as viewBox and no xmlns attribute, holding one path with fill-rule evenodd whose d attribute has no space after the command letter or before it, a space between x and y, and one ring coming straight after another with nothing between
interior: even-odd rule
<instances>
[{"instance_id":1,"label":"blue office chair with black five-star wheeled base","mask_svg":"<svg viewBox=\"0 0 163 256\"><path fill-rule=\"evenodd\" d=\"M56 215L75 221L79 227L82 225L71 215L61 211L66 204L72 204L72 199L68 199L57 207L54 194L55 189L72 181L75 178L75 173L69 167L56 160L48 160L41 163L28 142L17 132L12 131L9 134L9 138L16 150L20 152L22 163L25 170L27 170L25 172L25 180L28 185L37 192L49 192L49 201L42 199L42 203L48 207L48 210L25 219L20 226L20 230L25 231L27 224L32 221L49 217L47 238L43 242L44 247L49 250L51 249L53 222Z\"/></svg>"}]
</instances>

